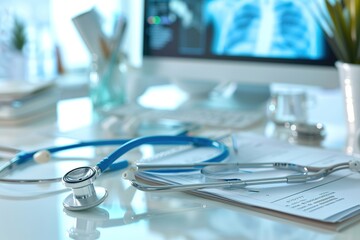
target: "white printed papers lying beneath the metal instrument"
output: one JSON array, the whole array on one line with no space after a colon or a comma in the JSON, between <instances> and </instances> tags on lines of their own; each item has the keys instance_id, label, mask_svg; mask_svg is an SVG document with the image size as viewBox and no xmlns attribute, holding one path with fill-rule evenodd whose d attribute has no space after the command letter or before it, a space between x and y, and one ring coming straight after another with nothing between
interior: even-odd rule
<instances>
[{"instance_id":1,"label":"white printed papers lying beneath the metal instrument","mask_svg":"<svg viewBox=\"0 0 360 240\"><path fill-rule=\"evenodd\" d=\"M249 133L237 133L234 136L237 139L239 152L237 155L232 155L230 161L292 162L301 165L328 166L353 159L341 152L290 145ZM198 157L202 157L200 155ZM178 159L172 156L171 161L181 162L183 157L182 154L178 154ZM192 158L197 158L196 152ZM272 174L276 173L273 172ZM171 182L171 184L200 183L204 180L199 172L162 175L141 173L139 177L150 182ZM339 230L345 226L340 223L349 224L359 219L360 188L357 187L359 183L359 173L342 170L320 181L305 184L259 185L231 190L206 189L191 193L274 216L301 220L300 222L305 224L308 220L311 225L318 224L319 227Z\"/></svg>"}]
</instances>

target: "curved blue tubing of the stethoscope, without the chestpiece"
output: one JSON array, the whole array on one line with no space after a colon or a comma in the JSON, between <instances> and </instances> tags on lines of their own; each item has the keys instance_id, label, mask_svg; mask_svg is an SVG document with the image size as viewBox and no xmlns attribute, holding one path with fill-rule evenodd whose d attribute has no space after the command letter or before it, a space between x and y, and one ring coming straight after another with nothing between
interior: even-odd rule
<instances>
[{"instance_id":1,"label":"curved blue tubing of the stethoscope, without the chestpiece","mask_svg":"<svg viewBox=\"0 0 360 240\"><path fill-rule=\"evenodd\" d=\"M130 150L139 147L141 145L192 145L194 147L212 147L219 150L219 154L209 158L203 162L221 162L225 160L229 156L229 151L225 144L220 141L212 140L209 138L203 137L193 137L187 135L177 135L177 136L145 136L134 139L111 139L111 140L96 140L96 141L84 141L75 144L49 147L45 149L38 149L34 151L22 151L11 159L7 164L5 164L2 168L0 168L0 173L5 170L12 170L15 165L20 165L26 163L33 159L34 155L39 151L48 151L50 154L54 154L57 152L77 149L82 147L101 147L101 146L114 146L120 145L118 149L112 152L107 157L103 158L99 163L96 164L96 167L100 170L100 172L105 171L116 171L122 170L129 166L129 161L121 160L117 161L121 156ZM176 170L168 170L174 172ZM181 171L181 170L178 170ZM52 181L60 181L61 178L53 178L53 179L34 179L34 180L26 180L26 179L17 179L17 180L7 180L0 179L0 182L8 182L8 183L40 183L40 182L52 182Z\"/></svg>"}]
</instances>

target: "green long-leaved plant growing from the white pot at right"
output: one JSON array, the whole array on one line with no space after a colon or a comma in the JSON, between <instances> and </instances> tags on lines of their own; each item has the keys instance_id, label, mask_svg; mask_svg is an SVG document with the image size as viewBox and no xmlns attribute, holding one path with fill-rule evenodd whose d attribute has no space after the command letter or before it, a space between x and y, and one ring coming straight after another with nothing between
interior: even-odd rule
<instances>
[{"instance_id":1,"label":"green long-leaved plant growing from the white pot at right","mask_svg":"<svg viewBox=\"0 0 360 240\"><path fill-rule=\"evenodd\" d=\"M360 63L360 0L323 0L319 20L338 60Z\"/></svg>"}]
</instances>

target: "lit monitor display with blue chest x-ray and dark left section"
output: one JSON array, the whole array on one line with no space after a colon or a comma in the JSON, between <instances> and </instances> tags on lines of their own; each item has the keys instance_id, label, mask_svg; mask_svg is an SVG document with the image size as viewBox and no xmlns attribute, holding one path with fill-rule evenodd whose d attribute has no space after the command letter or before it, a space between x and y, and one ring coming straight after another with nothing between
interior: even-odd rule
<instances>
[{"instance_id":1,"label":"lit monitor display with blue chest x-ray and dark left section","mask_svg":"<svg viewBox=\"0 0 360 240\"><path fill-rule=\"evenodd\" d=\"M197 58L322 60L309 0L146 0L145 53Z\"/></svg>"}]
</instances>

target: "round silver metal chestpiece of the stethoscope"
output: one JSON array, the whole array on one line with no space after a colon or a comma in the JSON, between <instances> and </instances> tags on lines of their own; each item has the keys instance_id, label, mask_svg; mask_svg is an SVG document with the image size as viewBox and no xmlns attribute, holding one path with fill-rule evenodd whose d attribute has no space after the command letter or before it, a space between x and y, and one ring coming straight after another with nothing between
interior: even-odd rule
<instances>
[{"instance_id":1,"label":"round silver metal chestpiece of the stethoscope","mask_svg":"<svg viewBox=\"0 0 360 240\"><path fill-rule=\"evenodd\" d=\"M95 207L102 203L108 193L105 188L94 187L94 180L98 175L93 167L79 167L66 173L62 179L64 185L72 189L63 205L65 209L80 211Z\"/></svg>"}]
</instances>

